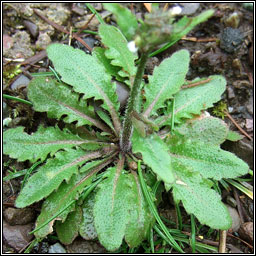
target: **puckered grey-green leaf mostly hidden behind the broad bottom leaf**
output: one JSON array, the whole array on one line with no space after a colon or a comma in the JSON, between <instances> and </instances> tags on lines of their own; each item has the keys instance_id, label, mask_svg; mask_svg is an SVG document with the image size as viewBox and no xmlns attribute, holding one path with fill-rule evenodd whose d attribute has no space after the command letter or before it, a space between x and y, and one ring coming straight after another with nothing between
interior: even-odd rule
<instances>
[{"instance_id":1,"label":"puckered grey-green leaf mostly hidden behind the broad bottom leaf","mask_svg":"<svg viewBox=\"0 0 256 256\"><path fill-rule=\"evenodd\" d=\"M95 203L95 193L92 192L82 205L83 219L80 224L79 233L85 240L93 240L97 237L94 227L93 207Z\"/></svg>"}]
</instances>

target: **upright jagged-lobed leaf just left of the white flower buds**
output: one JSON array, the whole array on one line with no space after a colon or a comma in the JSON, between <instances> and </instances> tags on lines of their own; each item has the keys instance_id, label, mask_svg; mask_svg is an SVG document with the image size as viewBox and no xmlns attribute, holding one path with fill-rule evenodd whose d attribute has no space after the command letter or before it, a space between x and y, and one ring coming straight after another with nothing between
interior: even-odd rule
<instances>
[{"instance_id":1,"label":"upright jagged-lobed leaf just left of the white flower buds","mask_svg":"<svg viewBox=\"0 0 256 256\"><path fill-rule=\"evenodd\" d=\"M109 48L105 55L112 60L111 64L123 68L118 74L122 77L134 76L136 73L134 61L137 57L128 49L128 42L119 29L101 24L99 34L103 44Z\"/></svg>"}]
</instances>

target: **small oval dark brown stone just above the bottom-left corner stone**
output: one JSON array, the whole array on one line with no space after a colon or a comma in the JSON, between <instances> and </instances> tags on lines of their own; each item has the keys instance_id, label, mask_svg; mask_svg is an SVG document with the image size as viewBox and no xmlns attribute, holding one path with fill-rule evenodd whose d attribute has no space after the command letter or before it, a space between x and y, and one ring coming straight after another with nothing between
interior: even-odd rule
<instances>
[{"instance_id":1,"label":"small oval dark brown stone just above the bottom-left corner stone","mask_svg":"<svg viewBox=\"0 0 256 256\"><path fill-rule=\"evenodd\" d=\"M25 225L32 222L36 217L32 208L16 209L8 207L4 210L4 218L10 225Z\"/></svg>"}]
</instances>

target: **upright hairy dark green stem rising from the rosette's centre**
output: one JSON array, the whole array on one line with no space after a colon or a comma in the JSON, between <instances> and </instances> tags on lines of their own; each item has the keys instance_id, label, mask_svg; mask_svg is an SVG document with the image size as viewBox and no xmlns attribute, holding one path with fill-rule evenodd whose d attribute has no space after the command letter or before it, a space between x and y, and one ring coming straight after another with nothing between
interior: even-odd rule
<instances>
[{"instance_id":1,"label":"upright hairy dark green stem rising from the rosette's centre","mask_svg":"<svg viewBox=\"0 0 256 256\"><path fill-rule=\"evenodd\" d=\"M143 53L140 59L140 64L137 69L137 73L134 79L134 83L131 90L131 96L129 98L128 106L126 109L124 123L123 123L123 131L120 140L120 148L123 152L128 152L131 148L131 136L132 136L132 120L131 113L133 110L136 110L136 106L138 105L138 98L140 95L140 84L144 74L145 65L148 59L148 54Z\"/></svg>"}]
</instances>

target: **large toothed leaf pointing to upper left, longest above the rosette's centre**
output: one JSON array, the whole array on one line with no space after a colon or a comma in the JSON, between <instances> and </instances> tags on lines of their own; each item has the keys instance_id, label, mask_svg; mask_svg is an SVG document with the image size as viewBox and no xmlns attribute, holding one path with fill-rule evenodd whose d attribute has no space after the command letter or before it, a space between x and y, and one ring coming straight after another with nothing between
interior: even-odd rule
<instances>
[{"instance_id":1,"label":"large toothed leaf pointing to upper left, longest above the rosette's centre","mask_svg":"<svg viewBox=\"0 0 256 256\"><path fill-rule=\"evenodd\" d=\"M111 84L111 76L105 72L104 66L98 60L82 50L68 45L52 44L47 47L48 57L61 75L63 82L72 85L74 90L84 94L84 98L101 99L112 117L116 131L121 124L117 110L119 102L116 91Z\"/></svg>"}]
</instances>

